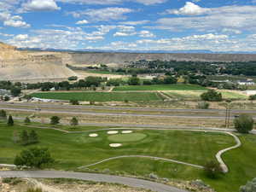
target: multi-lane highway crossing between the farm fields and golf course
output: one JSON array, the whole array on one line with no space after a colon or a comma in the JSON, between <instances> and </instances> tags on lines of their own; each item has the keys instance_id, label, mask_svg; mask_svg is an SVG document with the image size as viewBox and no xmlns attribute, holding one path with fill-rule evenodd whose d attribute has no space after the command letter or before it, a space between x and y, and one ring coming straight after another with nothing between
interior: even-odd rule
<instances>
[{"instance_id":1,"label":"multi-lane highway crossing between the farm fields and golf course","mask_svg":"<svg viewBox=\"0 0 256 192\"><path fill-rule=\"evenodd\" d=\"M20 108L22 107L22 108ZM37 112L35 108L40 108L40 113L67 113L67 114L73 114L73 115L101 115L101 116L130 116L130 117L152 117L152 118L166 118L166 117L172 117L172 118L182 118L182 119L225 119L224 116L224 110L221 109L158 109L158 108L109 108L109 107L98 107L98 106L63 106L63 105L38 105L34 103L6 103L6 102L0 102L0 108L4 110L13 110L13 111L20 111L20 112L31 112L35 113ZM113 113L109 112L94 112L94 111L88 111L88 108L90 109L110 109L110 110L144 110L146 111L152 111L155 112L179 112L179 113L189 113L189 114L150 114L150 113L125 113L122 111L119 111L117 113L114 111ZM71 110L73 109L73 110ZM87 109L87 111L86 111ZM211 113L214 112L220 112L223 114L219 115L212 115ZM201 113L201 114L197 114ZM256 113L255 110L235 110L232 111L232 113ZM231 116L230 119L234 119L234 117ZM256 119L256 116L253 116L253 119Z\"/></svg>"}]
</instances>

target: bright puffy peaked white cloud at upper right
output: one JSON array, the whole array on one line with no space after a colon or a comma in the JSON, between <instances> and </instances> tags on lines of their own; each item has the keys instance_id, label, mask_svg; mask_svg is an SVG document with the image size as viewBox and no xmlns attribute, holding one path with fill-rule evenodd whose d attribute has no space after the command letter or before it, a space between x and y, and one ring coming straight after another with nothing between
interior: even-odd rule
<instances>
[{"instance_id":1,"label":"bright puffy peaked white cloud at upper right","mask_svg":"<svg viewBox=\"0 0 256 192\"><path fill-rule=\"evenodd\" d=\"M210 11L211 9L201 8L195 3L187 2L181 9L169 9L166 10L167 14L174 15L202 15Z\"/></svg>"}]
</instances>

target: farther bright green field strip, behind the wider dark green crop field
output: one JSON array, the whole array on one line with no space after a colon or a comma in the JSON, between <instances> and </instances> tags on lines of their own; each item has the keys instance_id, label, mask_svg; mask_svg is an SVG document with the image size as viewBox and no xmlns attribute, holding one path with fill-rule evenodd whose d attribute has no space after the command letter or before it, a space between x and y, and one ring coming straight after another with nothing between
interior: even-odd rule
<instances>
[{"instance_id":1,"label":"farther bright green field strip, behind the wider dark green crop field","mask_svg":"<svg viewBox=\"0 0 256 192\"><path fill-rule=\"evenodd\" d=\"M207 90L207 88L196 84L153 84L153 85L125 85L118 86L113 91L129 90Z\"/></svg>"}]
</instances>

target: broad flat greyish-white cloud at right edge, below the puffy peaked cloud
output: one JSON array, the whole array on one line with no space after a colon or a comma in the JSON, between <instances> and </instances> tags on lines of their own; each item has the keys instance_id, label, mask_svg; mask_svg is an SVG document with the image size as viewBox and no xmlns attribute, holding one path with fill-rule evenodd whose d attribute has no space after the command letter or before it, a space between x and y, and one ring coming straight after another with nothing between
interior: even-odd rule
<instances>
[{"instance_id":1,"label":"broad flat greyish-white cloud at right edge, below the puffy peaked cloud","mask_svg":"<svg viewBox=\"0 0 256 192\"><path fill-rule=\"evenodd\" d=\"M256 30L256 6L225 6L210 9L204 15L166 17L160 18L156 22L157 28L171 31L221 31L224 28L234 30ZM200 12L195 12L200 13ZM194 13L194 14L195 14ZM190 12L192 14L192 12Z\"/></svg>"}]
</instances>

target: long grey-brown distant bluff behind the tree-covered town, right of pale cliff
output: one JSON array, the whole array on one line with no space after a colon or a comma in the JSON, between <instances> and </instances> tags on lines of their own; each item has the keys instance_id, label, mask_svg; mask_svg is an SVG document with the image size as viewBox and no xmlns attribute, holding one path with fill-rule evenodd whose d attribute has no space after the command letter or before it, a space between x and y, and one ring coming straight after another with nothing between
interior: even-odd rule
<instances>
[{"instance_id":1,"label":"long grey-brown distant bluff behind the tree-covered town, right of pale cliff","mask_svg":"<svg viewBox=\"0 0 256 192\"><path fill-rule=\"evenodd\" d=\"M256 61L256 55L245 54L136 54L136 53L69 53L71 63L95 64L117 63L127 61L160 60L160 61Z\"/></svg>"}]
</instances>

